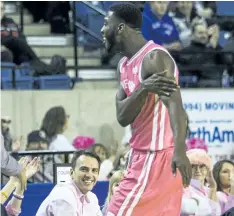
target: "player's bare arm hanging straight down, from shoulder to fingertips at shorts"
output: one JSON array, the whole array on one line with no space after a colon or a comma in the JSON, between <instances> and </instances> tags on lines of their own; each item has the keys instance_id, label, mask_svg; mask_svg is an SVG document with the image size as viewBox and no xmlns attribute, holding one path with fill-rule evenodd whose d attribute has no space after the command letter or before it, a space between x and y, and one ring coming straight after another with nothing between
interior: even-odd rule
<instances>
[{"instance_id":1,"label":"player's bare arm hanging straight down, from shoulder to fingertips at shorts","mask_svg":"<svg viewBox=\"0 0 234 216\"><path fill-rule=\"evenodd\" d=\"M175 64L172 58L165 51L157 50L147 54L143 60L142 68L143 70L141 75L144 80L142 85L150 92L156 93L151 81L155 74L159 74L164 71L164 78L175 80ZM173 173L176 173L176 168L178 168L182 174L184 185L189 185L191 179L191 167L189 160L186 157L185 149L187 117L183 108L180 89L178 88L170 97L162 95L159 95L159 97L168 109L173 130L175 150L172 161L172 171Z\"/></svg>"}]
</instances>

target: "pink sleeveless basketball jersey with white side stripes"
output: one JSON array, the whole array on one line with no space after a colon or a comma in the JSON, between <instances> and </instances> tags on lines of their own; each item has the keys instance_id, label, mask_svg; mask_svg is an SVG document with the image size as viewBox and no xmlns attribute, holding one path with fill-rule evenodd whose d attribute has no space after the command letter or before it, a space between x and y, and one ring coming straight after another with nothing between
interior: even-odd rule
<instances>
[{"instance_id":1,"label":"pink sleeveless basketball jersey with white side stripes","mask_svg":"<svg viewBox=\"0 0 234 216\"><path fill-rule=\"evenodd\" d=\"M142 61L144 56L153 50L163 50L168 53L162 46L149 41L131 59L124 57L120 60L120 81L127 96L139 88L142 82ZM177 67L175 67L174 76L178 81ZM133 149L157 151L174 145L167 108L156 94L148 94L146 102L131 124L131 128L130 145Z\"/></svg>"}]
</instances>

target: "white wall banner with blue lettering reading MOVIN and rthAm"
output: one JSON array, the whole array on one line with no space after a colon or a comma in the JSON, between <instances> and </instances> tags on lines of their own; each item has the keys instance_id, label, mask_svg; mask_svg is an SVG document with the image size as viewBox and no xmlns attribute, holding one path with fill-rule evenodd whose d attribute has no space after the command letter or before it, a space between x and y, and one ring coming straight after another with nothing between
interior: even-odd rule
<instances>
[{"instance_id":1,"label":"white wall banner with blue lettering reading MOVIN and rthAm","mask_svg":"<svg viewBox=\"0 0 234 216\"><path fill-rule=\"evenodd\" d=\"M234 91L184 90L182 91L193 137L207 143L213 161L234 161Z\"/></svg>"}]
</instances>

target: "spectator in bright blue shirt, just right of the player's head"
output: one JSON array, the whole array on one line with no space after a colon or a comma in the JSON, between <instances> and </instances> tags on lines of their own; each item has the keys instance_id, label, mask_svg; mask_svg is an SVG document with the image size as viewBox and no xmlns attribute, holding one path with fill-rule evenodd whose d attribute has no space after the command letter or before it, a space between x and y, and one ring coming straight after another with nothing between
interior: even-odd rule
<instances>
[{"instance_id":1,"label":"spectator in bright blue shirt, just right of the player's head","mask_svg":"<svg viewBox=\"0 0 234 216\"><path fill-rule=\"evenodd\" d=\"M151 1L143 11L142 34L168 50L180 50L179 34L167 13L167 1Z\"/></svg>"}]
</instances>

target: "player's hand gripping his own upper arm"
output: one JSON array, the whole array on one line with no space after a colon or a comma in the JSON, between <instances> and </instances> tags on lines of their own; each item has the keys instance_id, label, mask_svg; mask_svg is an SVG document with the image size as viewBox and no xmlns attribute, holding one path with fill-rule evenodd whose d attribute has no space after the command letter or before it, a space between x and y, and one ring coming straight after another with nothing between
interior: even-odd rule
<instances>
[{"instance_id":1,"label":"player's hand gripping his own upper arm","mask_svg":"<svg viewBox=\"0 0 234 216\"><path fill-rule=\"evenodd\" d=\"M166 71L153 74L142 82L142 88L159 96L167 96L178 89L175 79L165 77Z\"/></svg>"}]
</instances>

